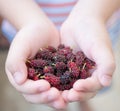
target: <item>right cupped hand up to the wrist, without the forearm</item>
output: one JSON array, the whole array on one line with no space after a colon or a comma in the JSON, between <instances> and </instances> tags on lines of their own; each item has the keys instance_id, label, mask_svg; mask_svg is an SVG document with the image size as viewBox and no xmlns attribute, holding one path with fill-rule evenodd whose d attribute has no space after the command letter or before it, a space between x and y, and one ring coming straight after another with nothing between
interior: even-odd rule
<instances>
[{"instance_id":1,"label":"right cupped hand up to the wrist, without the forearm","mask_svg":"<svg viewBox=\"0 0 120 111\"><path fill-rule=\"evenodd\" d=\"M71 90L63 92L66 101L88 100L101 88L110 85L115 60L109 35L101 20L70 15L62 25L61 41L75 50L82 50L96 63L90 78L76 81Z\"/></svg>"}]
</instances>

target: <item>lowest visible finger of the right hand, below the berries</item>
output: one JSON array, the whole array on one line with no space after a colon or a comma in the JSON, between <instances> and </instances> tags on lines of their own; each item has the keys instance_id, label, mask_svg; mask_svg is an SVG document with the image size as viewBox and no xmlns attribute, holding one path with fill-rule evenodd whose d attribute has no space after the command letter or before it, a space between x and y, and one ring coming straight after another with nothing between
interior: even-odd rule
<instances>
[{"instance_id":1,"label":"lowest visible finger of the right hand, below the berries","mask_svg":"<svg viewBox=\"0 0 120 111\"><path fill-rule=\"evenodd\" d=\"M67 99L69 102L86 101L94 97L95 95L96 92L90 93L90 92L76 91L74 89L71 89L67 95Z\"/></svg>"}]
</instances>

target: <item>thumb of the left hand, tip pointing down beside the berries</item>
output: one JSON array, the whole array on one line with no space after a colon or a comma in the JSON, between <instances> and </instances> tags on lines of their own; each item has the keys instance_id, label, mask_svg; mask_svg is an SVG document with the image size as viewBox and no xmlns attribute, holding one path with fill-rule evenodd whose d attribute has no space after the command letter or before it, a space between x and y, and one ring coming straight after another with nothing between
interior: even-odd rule
<instances>
[{"instance_id":1,"label":"thumb of the left hand, tip pointing down beside the berries","mask_svg":"<svg viewBox=\"0 0 120 111\"><path fill-rule=\"evenodd\" d=\"M5 69L12 84L15 82L18 85L21 85L26 81L27 68L25 65L25 59L21 58L20 55L16 54L14 51L9 51Z\"/></svg>"}]
</instances>

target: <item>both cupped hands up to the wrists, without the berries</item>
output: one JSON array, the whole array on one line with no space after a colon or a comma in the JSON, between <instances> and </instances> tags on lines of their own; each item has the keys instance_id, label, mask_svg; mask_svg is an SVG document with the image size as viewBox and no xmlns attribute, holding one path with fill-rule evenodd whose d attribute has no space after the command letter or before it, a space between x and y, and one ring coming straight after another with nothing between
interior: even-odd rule
<instances>
[{"instance_id":1,"label":"both cupped hands up to the wrists, without the berries","mask_svg":"<svg viewBox=\"0 0 120 111\"><path fill-rule=\"evenodd\" d=\"M46 21L44 21L46 22ZM90 78L78 80L73 88L63 92L50 88L45 80L27 79L26 59L33 57L39 48L60 43L82 50L96 62ZM103 87L110 85L115 60L109 36L102 20L71 15L63 23L60 33L50 23L30 24L23 27L14 38L6 60L6 73L11 84L31 103L47 104L62 109L69 102L86 101Z\"/></svg>"}]
</instances>

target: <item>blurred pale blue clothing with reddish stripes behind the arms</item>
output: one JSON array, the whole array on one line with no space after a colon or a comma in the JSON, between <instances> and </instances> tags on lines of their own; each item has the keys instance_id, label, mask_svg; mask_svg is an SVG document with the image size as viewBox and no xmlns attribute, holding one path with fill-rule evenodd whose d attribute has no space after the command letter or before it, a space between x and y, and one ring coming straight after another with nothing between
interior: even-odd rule
<instances>
[{"instance_id":1,"label":"blurred pale blue clothing with reddish stripes behind the arms","mask_svg":"<svg viewBox=\"0 0 120 111\"><path fill-rule=\"evenodd\" d=\"M50 20L60 28L61 24L66 20L69 13L78 0L35 0L40 8L46 13ZM113 14L106 24L112 43L118 39L120 35L120 10ZM3 21L2 31L11 42L16 34L16 29L6 20Z\"/></svg>"}]
</instances>

